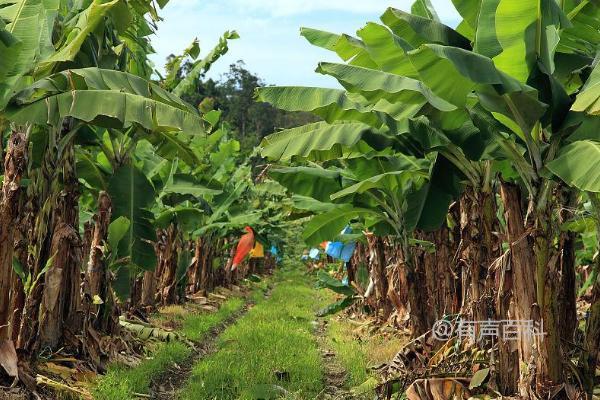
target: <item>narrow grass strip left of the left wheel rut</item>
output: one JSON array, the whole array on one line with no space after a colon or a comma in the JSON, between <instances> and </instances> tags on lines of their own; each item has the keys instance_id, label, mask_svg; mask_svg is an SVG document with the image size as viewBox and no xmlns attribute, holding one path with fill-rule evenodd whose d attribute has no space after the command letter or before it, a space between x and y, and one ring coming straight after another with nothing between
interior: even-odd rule
<instances>
[{"instance_id":1,"label":"narrow grass strip left of the left wheel rut","mask_svg":"<svg viewBox=\"0 0 600 400\"><path fill-rule=\"evenodd\" d=\"M252 284L249 300L254 302L263 297L266 287L267 282L264 280ZM181 328L176 331L189 340L201 341L210 333L211 329L240 311L245 303L246 300L243 298L231 297L214 313L177 315L181 317ZM179 309L181 310L178 312L183 312L181 307ZM151 357L142 361L135 368L113 364L93 389L94 399L130 400L134 393L148 394L153 379L159 377L174 363L185 361L191 353L192 349L181 342L160 343L152 351Z\"/></svg>"}]
</instances>

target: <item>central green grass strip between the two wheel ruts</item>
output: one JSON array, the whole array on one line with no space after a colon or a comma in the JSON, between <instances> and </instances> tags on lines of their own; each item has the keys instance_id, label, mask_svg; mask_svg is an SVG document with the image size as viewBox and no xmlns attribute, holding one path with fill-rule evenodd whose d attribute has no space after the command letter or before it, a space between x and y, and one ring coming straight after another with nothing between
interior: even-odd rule
<instances>
[{"instance_id":1,"label":"central green grass strip between the two wheel ruts","mask_svg":"<svg viewBox=\"0 0 600 400\"><path fill-rule=\"evenodd\" d=\"M298 270L278 271L275 279L271 297L258 298L221 335L218 352L194 367L182 399L254 399L273 385L309 399L322 389L313 320L323 301ZM278 380L276 371L287 373L289 381Z\"/></svg>"}]
</instances>

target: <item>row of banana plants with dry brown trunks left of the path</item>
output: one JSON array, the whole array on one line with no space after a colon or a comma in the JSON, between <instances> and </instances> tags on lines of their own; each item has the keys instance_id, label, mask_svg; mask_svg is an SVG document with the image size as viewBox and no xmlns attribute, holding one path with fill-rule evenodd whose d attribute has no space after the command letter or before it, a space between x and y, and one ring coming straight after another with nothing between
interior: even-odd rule
<instances>
[{"instance_id":1,"label":"row of banana plants with dry brown trunks left of the path","mask_svg":"<svg viewBox=\"0 0 600 400\"><path fill-rule=\"evenodd\" d=\"M177 97L237 33L204 58L192 42L151 82L166 3L0 1L0 364L32 390L39 354L103 371L121 313L236 281L241 228L265 245L281 231L283 192L254 185L219 111Z\"/></svg>"}]
</instances>

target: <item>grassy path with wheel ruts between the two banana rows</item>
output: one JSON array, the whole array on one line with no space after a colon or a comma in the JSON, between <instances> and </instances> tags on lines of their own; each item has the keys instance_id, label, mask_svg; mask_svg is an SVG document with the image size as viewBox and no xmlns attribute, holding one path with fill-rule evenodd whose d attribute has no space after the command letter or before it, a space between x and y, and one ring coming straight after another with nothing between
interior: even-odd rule
<instances>
[{"instance_id":1,"label":"grassy path with wheel ruts between the two banana rows","mask_svg":"<svg viewBox=\"0 0 600 400\"><path fill-rule=\"evenodd\" d=\"M373 398L367 366L387 361L402 339L359 329L364 321L316 320L335 296L315 290L301 268L278 269L268 282L270 291L261 282L248 298L230 297L214 313L162 310L158 318L177 322L195 346L162 343L136 368L112 366L95 399Z\"/></svg>"}]
</instances>

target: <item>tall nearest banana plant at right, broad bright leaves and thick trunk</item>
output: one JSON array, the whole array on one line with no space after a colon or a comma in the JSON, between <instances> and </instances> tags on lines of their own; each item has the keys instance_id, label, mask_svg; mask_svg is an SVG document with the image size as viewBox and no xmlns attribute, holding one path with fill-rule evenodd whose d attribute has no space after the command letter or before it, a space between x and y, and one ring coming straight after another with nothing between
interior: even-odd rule
<instances>
[{"instance_id":1,"label":"tall nearest banana plant at right, broad bright leaves and thick trunk","mask_svg":"<svg viewBox=\"0 0 600 400\"><path fill-rule=\"evenodd\" d=\"M553 0L455 3L464 18L457 30L443 25L419 2L416 14L388 9L381 16L383 25L369 23L358 37L303 29L312 44L345 61L317 68L345 90L260 90L263 101L324 120L265 138L263 155L298 162L352 159L357 153L369 159L373 152L385 150L421 158L437 155L437 162L453 166L453 180L472 190L491 193L499 170L504 180L522 185L523 200L530 204L527 214L505 197L507 216L520 221L517 226L515 219L509 223L509 241L517 240L517 232L532 231L518 253L528 255L513 255L517 314L531 319L534 303L540 306L548 335L538 343L535 379L560 382L561 344L553 311L558 288L550 278L556 275L558 251L551 215L560 201L552 193L558 184L589 184L593 175L584 177L589 164L579 157L570 157L569 164L556 161L573 176L553 175L553 160L573 151L573 135L593 135L598 95L595 42L581 32L594 24L583 15L596 15L598 10L592 2ZM500 168L505 161L510 168ZM435 197L456 195L431 174L429 182L437 186ZM386 215L392 211L386 210ZM524 377L529 374L531 345L520 346L522 395L529 390Z\"/></svg>"}]
</instances>

